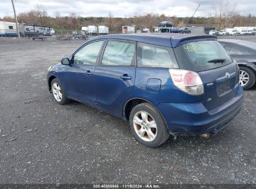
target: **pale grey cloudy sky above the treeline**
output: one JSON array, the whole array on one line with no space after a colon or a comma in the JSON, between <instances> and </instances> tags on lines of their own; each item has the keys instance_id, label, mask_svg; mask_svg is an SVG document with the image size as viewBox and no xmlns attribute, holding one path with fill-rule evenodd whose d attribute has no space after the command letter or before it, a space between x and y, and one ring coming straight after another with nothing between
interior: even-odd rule
<instances>
[{"instance_id":1,"label":"pale grey cloudy sky above the treeline","mask_svg":"<svg viewBox=\"0 0 256 189\"><path fill-rule=\"evenodd\" d=\"M166 16L192 16L198 4L201 4L195 16L209 16L214 3L224 0L14 0L16 12L27 12L42 4L50 16L55 16L59 11L61 16L68 16L71 13L80 16L108 16L109 12L114 17L129 17L135 13L143 15L145 13L165 14ZM227 1L227 0L225 0ZM234 2L234 0L230 0ZM252 14L256 16L255 0L237 1L236 12L243 15ZM11 0L0 0L0 17L12 16Z\"/></svg>"}]
</instances>

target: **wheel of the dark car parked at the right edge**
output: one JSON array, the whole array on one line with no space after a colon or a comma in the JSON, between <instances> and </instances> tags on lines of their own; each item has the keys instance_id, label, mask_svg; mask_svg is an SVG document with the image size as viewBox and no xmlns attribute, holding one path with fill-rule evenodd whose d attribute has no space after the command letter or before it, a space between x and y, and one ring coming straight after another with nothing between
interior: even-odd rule
<instances>
[{"instance_id":1,"label":"wheel of the dark car parked at the right edge","mask_svg":"<svg viewBox=\"0 0 256 189\"><path fill-rule=\"evenodd\" d=\"M244 80L242 77L244 76ZM249 78L247 81L246 78ZM247 81L247 82L245 82ZM244 90L249 90L255 84L255 74L250 68L239 67L239 84L244 88Z\"/></svg>"}]
</instances>

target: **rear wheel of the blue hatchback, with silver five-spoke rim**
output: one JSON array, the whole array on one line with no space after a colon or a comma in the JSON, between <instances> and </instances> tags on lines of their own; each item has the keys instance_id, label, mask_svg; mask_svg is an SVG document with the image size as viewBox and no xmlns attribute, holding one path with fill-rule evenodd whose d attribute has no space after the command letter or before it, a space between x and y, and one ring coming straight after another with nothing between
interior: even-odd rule
<instances>
[{"instance_id":1,"label":"rear wheel of the blue hatchback, with silver five-spoke rim","mask_svg":"<svg viewBox=\"0 0 256 189\"><path fill-rule=\"evenodd\" d=\"M164 119L158 110L149 103L138 104L131 110L130 127L135 138L148 147L157 147L169 138Z\"/></svg>"}]
</instances>

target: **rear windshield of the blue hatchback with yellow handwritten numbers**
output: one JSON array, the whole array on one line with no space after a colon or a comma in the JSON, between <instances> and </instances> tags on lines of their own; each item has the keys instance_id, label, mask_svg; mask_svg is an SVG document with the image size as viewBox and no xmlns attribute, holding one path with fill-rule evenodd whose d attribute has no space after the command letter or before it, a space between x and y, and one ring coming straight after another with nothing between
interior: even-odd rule
<instances>
[{"instance_id":1,"label":"rear windshield of the blue hatchback with yellow handwritten numbers","mask_svg":"<svg viewBox=\"0 0 256 189\"><path fill-rule=\"evenodd\" d=\"M217 40L202 40L174 48L179 67L191 71L206 71L232 63Z\"/></svg>"}]
</instances>

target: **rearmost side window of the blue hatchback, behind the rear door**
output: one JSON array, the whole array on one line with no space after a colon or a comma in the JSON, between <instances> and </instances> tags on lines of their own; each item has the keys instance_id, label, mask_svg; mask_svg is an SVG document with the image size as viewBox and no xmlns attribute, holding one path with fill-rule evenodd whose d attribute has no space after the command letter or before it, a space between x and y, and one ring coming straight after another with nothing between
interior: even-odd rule
<instances>
[{"instance_id":1,"label":"rearmost side window of the blue hatchback, behind the rear door","mask_svg":"<svg viewBox=\"0 0 256 189\"><path fill-rule=\"evenodd\" d=\"M173 48L140 42L137 47L138 67L178 68Z\"/></svg>"}]
</instances>

